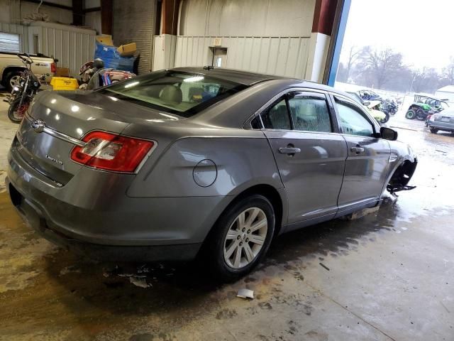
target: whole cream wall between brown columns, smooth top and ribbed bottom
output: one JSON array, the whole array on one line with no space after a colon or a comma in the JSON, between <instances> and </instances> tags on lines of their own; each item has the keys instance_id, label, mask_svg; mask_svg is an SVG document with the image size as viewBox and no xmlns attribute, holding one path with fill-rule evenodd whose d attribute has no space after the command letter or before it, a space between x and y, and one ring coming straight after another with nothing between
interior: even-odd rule
<instances>
[{"instance_id":1,"label":"whole cream wall between brown columns, smooth top and ribbed bottom","mask_svg":"<svg viewBox=\"0 0 454 341\"><path fill-rule=\"evenodd\" d=\"M175 66L211 65L210 46L220 38L221 67L305 78L315 2L184 0Z\"/></svg>"}]
</instances>

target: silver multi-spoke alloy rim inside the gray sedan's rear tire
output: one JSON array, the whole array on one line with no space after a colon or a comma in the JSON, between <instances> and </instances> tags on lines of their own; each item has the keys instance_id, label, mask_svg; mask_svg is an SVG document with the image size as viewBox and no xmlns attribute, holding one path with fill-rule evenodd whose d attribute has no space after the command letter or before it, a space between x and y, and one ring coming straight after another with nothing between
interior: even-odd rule
<instances>
[{"instance_id":1,"label":"silver multi-spoke alloy rim inside the gray sedan's rear tire","mask_svg":"<svg viewBox=\"0 0 454 341\"><path fill-rule=\"evenodd\" d=\"M260 208L250 207L241 212L233 220L223 242L226 264L233 269L250 264L265 244L267 231L267 216Z\"/></svg>"}]
</instances>

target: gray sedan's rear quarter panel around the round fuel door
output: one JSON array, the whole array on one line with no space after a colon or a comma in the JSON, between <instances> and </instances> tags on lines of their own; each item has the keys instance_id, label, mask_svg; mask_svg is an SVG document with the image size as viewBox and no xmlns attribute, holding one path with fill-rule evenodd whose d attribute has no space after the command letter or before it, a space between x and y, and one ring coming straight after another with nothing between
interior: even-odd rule
<instances>
[{"instance_id":1,"label":"gray sedan's rear quarter panel around the round fuel door","mask_svg":"<svg viewBox=\"0 0 454 341\"><path fill-rule=\"evenodd\" d=\"M243 131L239 131L243 133ZM178 139L140 171L128 189L131 197L186 197L237 195L253 185L282 188L270 145L262 131L249 136L189 136ZM153 156L152 156L153 157ZM216 165L212 185L194 180L194 168L203 160ZM207 167L199 165L200 168ZM208 166L209 167L209 166Z\"/></svg>"}]
</instances>

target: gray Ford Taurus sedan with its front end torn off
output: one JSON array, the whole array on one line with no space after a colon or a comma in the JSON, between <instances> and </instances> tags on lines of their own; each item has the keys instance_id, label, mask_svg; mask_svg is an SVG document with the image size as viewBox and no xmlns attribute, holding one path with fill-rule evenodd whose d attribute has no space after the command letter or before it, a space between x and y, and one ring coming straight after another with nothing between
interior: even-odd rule
<instances>
[{"instance_id":1,"label":"gray Ford Taurus sedan with its front end torn off","mask_svg":"<svg viewBox=\"0 0 454 341\"><path fill-rule=\"evenodd\" d=\"M43 237L111 260L189 260L225 280L278 234L406 189L411 148L313 82L177 68L42 92L9 152L13 205Z\"/></svg>"}]
</instances>

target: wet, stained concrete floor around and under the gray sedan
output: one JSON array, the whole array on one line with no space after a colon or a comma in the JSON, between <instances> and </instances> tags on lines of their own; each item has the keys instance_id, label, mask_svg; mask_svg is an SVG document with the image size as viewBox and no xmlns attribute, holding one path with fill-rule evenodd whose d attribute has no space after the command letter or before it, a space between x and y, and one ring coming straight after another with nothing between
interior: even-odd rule
<instances>
[{"instance_id":1,"label":"wet, stained concrete floor around and under the gray sedan","mask_svg":"<svg viewBox=\"0 0 454 341\"><path fill-rule=\"evenodd\" d=\"M0 173L16 129L5 108ZM196 264L81 259L37 237L0 193L0 340L454 340L454 136L403 115L389 126L419 153L418 188L279 237L233 284Z\"/></svg>"}]
</instances>

